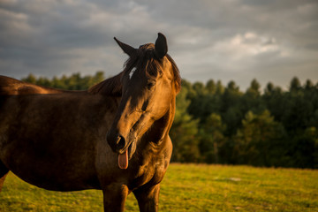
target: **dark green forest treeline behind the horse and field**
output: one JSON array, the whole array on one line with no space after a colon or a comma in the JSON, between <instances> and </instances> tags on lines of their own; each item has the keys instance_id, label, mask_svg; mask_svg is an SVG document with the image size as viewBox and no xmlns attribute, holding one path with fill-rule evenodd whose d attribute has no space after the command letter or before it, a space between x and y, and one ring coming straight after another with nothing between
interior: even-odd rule
<instances>
[{"instance_id":1,"label":"dark green forest treeline behind the horse and field","mask_svg":"<svg viewBox=\"0 0 318 212\"><path fill-rule=\"evenodd\" d=\"M94 76L35 77L45 87L85 90L105 79ZM235 81L191 83L184 79L170 130L171 161L318 168L318 82L291 79L288 89L257 79L245 92Z\"/></svg>"}]
</instances>

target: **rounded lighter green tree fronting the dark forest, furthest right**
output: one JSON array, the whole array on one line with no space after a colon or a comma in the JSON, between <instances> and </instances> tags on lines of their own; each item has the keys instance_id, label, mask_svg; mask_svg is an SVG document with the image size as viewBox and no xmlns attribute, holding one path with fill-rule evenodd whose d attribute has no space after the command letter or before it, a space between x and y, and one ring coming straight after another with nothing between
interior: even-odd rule
<instances>
[{"instance_id":1,"label":"rounded lighter green tree fronting the dark forest, furthest right","mask_svg":"<svg viewBox=\"0 0 318 212\"><path fill-rule=\"evenodd\" d=\"M264 110L260 115L248 111L242 124L234 136L233 153L238 158L238 163L256 166L278 165L277 157L284 155L284 148L280 147L282 140L286 139L283 125L270 116L269 110Z\"/></svg>"}]
</instances>

